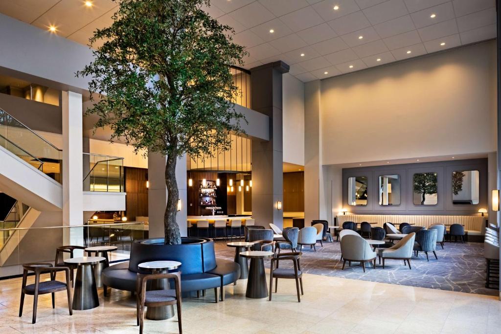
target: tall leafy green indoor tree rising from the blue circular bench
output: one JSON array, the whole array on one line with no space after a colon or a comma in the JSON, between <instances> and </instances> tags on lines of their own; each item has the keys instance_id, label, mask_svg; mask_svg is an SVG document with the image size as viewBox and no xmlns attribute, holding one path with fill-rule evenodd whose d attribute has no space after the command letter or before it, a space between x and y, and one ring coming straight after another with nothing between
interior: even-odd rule
<instances>
[{"instance_id":1,"label":"tall leafy green indoor tree rising from the blue circular bench","mask_svg":"<svg viewBox=\"0 0 501 334\"><path fill-rule=\"evenodd\" d=\"M229 66L241 65L245 51L202 10L209 0L113 1L114 22L94 33L94 61L77 73L99 96L87 113L99 116L96 128L111 128L110 140L166 157L165 243L179 244L176 161L228 150L228 132L243 132Z\"/></svg>"}]
</instances>

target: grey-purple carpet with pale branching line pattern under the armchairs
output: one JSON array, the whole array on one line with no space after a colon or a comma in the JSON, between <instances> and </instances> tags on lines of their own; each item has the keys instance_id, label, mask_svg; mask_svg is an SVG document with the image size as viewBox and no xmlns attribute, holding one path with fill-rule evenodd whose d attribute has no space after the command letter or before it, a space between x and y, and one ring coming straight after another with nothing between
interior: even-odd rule
<instances>
[{"instance_id":1,"label":"grey-purple carpet with pale branching line pattern under the armchairs","mask_svg":"<svg viewBox=\"0 0 501 334\"><path fill-rule=\"evenodd\" d=\"M301 267L303 272L325 276L336 276L350 279L361 279L374 282L392 283L409 286L427 287L441 290L460 291L477 294L497 295L497 289L485 288L485 259L483 243L446 242L445 249L437 246L438 260L428 253L430 261L426 261L424 253L411 259L412 270L404 266L403 261L387 260L385 268L376 265L376 269L366 265L365 273L358 263L345 266L339 261L341 249L339 242L324 242L324 247L317 245L317 251L303 247ZM233 259L234 248L226 246L226 241L216 241L217 257ZM289 261L290 262L290 261ZM287 262L281 266L290 266ZM376 261L376 264L378 262ZM265 261L265 266L269 267Z\"/></svg>"}]
</instances>

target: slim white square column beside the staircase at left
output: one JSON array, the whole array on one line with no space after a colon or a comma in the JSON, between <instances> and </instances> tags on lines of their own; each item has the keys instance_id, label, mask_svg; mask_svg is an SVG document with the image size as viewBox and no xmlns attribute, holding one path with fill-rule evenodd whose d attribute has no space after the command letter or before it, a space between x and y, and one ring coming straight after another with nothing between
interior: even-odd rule
<instances>
[{"instance_id":1,"label":"slim white square column beside the staircase at left","mask_svg":"<svg viewBox=\"0 0 501 334\"><path fill-rule=\"evenodd\" d=\"M82 94L63 92L63 225L83 223ZM66 245L84 245L83 229L65 229Z\"/></svg>"}]
</instances>

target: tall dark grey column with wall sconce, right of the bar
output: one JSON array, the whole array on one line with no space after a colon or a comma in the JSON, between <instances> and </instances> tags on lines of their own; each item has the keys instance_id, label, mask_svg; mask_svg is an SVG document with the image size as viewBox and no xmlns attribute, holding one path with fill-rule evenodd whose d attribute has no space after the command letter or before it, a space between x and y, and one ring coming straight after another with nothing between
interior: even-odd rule
<instances>
[{"instance_id":1,"label":"tall dark grey column with wall sconce, right of the bar","mask_svg":"<svg viewBox=\"0 0 501 334\"><path fill-rule=\"evenodd\" d=\"M269 223L282 228L284 201L282 144L282 75L289 72L283 62L259 66L252 73L252 109L270 117L270 140L253 139L252 144L252 212L256 225Z\"/></svg>"}]
</instances>

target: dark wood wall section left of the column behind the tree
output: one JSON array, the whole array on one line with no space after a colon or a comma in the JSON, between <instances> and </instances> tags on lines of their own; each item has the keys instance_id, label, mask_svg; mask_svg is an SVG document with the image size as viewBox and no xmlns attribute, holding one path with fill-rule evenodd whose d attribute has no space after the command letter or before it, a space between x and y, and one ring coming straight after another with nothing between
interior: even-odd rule
<instances>
[{"instance_id":1,"label":"dark wood wall section left of the column behind the tree","mask_svg":"<svg viewBox=\"0 0 501 334\"><path fill-rule=\"evenodd\" d=\"M129 221L137 216L148 216L148 170L125 167L125 215Z\"/></svg>"}]
</instances>

